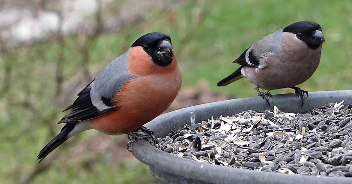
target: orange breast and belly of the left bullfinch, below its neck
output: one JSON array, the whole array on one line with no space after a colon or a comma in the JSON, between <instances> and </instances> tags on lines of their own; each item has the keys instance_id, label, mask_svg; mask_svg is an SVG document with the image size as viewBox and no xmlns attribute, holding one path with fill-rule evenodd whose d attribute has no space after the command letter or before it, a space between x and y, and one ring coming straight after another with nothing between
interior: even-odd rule
<instances>
[{"instance_id":1,"label":"orange breast and belly of the left bullfinch, below its neck","mask_svg":"<svg viewBox=\"0 0 352 184\"><path fill-rule=\"evenodd\" d=\"M162 114L181 87L181 73L176 59L174 62L176 67L170 72L155 72L125 83L113 99L119 108L91 120L92 126L108 134L117 134L133 131Z\"/></svg>"}]
</instances>

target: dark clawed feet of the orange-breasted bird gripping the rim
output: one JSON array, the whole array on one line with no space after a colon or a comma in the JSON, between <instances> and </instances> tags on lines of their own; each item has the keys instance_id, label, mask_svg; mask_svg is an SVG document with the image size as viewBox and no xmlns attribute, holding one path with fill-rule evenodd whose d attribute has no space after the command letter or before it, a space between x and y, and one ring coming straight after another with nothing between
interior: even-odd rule
<instances>
[{"instance_id":1,"label":"dark clawed feet of the orange-breasted bird gripping the rim","mask_svg":"<svg viewBox=\"0 0 352 184\"><path fill-rule=\"evenodd\" d=\"M140 133L136 133L136 132L141 132L141 133L144 133L144 134L140 134ZM132 147L133 142L138 140L138 139L145 139L151 145L154 145L154 143L155 143L155 137L153 135L154 131L149 129L149 128L146 128L144 126L142 126L140 129L137 129L134 132L125 131L123 133L127 134L127 138L130 139L130 141L128 141L127 145L126 145L127 150L130 151L130 152L132 152L131 147Z\"/></svg>"}]
</instances>

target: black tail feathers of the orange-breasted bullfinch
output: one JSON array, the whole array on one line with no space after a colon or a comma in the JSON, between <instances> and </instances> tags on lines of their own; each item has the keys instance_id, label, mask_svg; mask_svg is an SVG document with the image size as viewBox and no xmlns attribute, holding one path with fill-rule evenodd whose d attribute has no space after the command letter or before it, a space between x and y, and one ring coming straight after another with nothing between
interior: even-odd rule
<instances>
[{"instance_id":1,"label":"black tail feathers of the orange-breasted bullfinch","mask_svg":"<svg viewBox=\"0 0 352 184\"><path fill-rule=\"evenodd\" d=\"M39 160L39 163L53 150L55 150L55 148L57 148L58 146L60 146L63 142L65 142L68 137L68 133L70 133L74 127L75 127L76 123L67 123L64 127L62 127L61 131L59 134L57 134L54 138L51 139L50 142L48 142L48 144L46 144L46 146L44 146L44 148L39 152L38 156L37 156L37 160Z\"/></svg>"}]
</instances>

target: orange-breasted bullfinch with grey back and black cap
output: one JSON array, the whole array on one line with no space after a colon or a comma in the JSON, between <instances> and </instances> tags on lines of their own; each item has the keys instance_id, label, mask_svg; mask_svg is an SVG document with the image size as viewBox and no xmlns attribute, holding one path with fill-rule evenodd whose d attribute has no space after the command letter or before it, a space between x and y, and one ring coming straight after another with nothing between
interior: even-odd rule
<instances>
[{"instance_id":1,"label":"orange-breasted bullfinch with grey back and black cap","mask_svg":"<svg viewBox=\"0 0 352 184\"><path fill-rule=\"evenodd\" d=\"M170 106L180 87L181 73L171 38L159 32L143 35L108 63L64 109L71 109L58 122L65 125L37 159L42 161L68 138L91 128L106 134L126 133L131 141L152 141L153 132L142 126ZM147 135L134 132L139 128Z\"/></svg>"}]
</instances>

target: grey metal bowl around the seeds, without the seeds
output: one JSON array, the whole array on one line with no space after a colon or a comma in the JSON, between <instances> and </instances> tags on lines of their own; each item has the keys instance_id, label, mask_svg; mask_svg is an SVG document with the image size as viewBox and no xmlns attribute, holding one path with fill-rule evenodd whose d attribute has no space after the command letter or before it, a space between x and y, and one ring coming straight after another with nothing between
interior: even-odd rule
<instances>
[{"instance_id":1,"label":"grey metal bowl around the seeds, without the seeds","mask_svg":"<svg viewBox=\"0 0 352 184\"><path fill-rule=\"evenodd\" d=\"M345 104L352 104L352 90L309 93L302 108L301 99L295 94L274 95L270 104L284 112L302 113L304 110L342 100ZM162 138L181 129L185 123L190 125L212 116L230 116L244 110L257 111L266 108L267 103L261 97L206 103L166 113L147 123L146 127L154 130L156 138ZM166 183L352 184L352 179L349 178L288 175L199 163L158 150L146 140L134 142L132 150L139 161L149 166L154 177Z\"/></svg>"}]
</instances>

